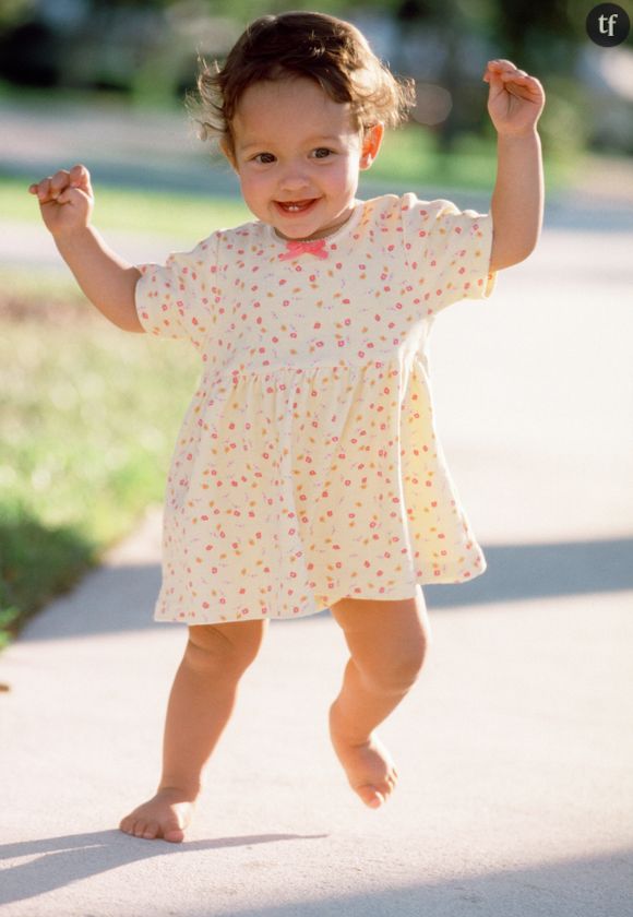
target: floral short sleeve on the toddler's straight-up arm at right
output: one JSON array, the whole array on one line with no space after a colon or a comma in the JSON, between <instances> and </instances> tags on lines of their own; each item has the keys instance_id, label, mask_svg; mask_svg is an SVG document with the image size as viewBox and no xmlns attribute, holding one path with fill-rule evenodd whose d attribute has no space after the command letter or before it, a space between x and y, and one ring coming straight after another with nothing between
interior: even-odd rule
<instances>
[{"instance_id":1,"label":"floral short sleeve on the toddler's straight-up arm at right","mask_svg":"<svg viewBox=\"0 0 633 917\"><path fill-rule=\"evenodd\" d=\"M420 201L411 193L401 203L407 264L428 312L461 299L488 299L497 281L490 271L492 214L461 211L443 199Z\"/></svg>"}]
</instances>

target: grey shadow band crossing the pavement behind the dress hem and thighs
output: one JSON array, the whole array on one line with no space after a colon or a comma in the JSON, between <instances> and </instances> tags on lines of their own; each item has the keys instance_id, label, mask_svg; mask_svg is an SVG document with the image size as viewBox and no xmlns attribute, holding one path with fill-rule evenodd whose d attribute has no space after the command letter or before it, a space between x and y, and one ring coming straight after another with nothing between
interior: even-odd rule
<instances>
[{"instance_id":1,"label":"grey shadow band crossing the pavement behind the dress hem and thighs","mask_svg":"<svg viewBox=\"0 0 633 917\"><path fill-rule=\"evenodd\" d=\"M633 538L483 546L483 552L488 569L471 583L422 587L430 609L466 610L477 605L633 588ZM21 640L154 628L159 587L160 567L155 563L99 568L89 572L74 592L52 603L43 616L45 621L36 617L27 624ZM291 621L272 620L296 627L329 614L326 609Z\"/></svg>"}]
</instances>

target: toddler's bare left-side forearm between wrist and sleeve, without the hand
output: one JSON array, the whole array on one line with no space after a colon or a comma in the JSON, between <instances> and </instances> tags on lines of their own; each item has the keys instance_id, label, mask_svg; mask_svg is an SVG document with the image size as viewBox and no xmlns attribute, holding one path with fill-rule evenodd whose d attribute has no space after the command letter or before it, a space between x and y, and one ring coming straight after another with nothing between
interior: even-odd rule
<instances>
[{"instance_id":1,"label":"toddler's bare left-side forearm between wrist and sleeve, without the hand","mask_svg":"<svg viewBox=\"0 0 633 917\"><path fill-rule=\"evenodd\" d=\"M91 302L123 331L144 332L134 300L139 269L108 248L93 226L56 234L53 239Z\"/></svg>"}]
</instances>

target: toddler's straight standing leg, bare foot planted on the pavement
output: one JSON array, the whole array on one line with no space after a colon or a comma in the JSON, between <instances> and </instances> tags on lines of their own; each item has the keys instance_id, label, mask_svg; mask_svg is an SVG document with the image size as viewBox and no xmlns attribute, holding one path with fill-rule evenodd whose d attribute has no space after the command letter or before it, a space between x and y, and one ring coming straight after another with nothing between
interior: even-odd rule
<instances>
[{"instance_id":1,"label":"toddler's straight standing leg, bare foot planted on the pavement","mask_svg":"<svg viewBox=\"0 0 633 917\"><path fill-rule=\"evenodd\" d=\"M180 843L203 787L203 771L235 707L242 674L255 658L267 621L189 628L169 695L163 775L156 795L122 819L136 837Z\"/></svg>"}]
</instances>

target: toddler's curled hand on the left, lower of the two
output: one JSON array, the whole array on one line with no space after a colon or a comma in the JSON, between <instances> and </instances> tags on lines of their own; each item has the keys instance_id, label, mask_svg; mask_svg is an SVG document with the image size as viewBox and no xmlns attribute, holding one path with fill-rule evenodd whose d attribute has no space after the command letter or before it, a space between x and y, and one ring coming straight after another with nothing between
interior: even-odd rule
<instances>
[{"instance_id":1,"label":"toddler's curled hand on the left, lower of the two","mask_svg":"<svg viewBox=\"0 0 633 917\"><path fill-rule=\"evenodd\" d=\"M53 236L85 228L91 221L94 193L85 166L61 169L28 188L39 201L41 217Z\"/></svg>"}]
</instances>

